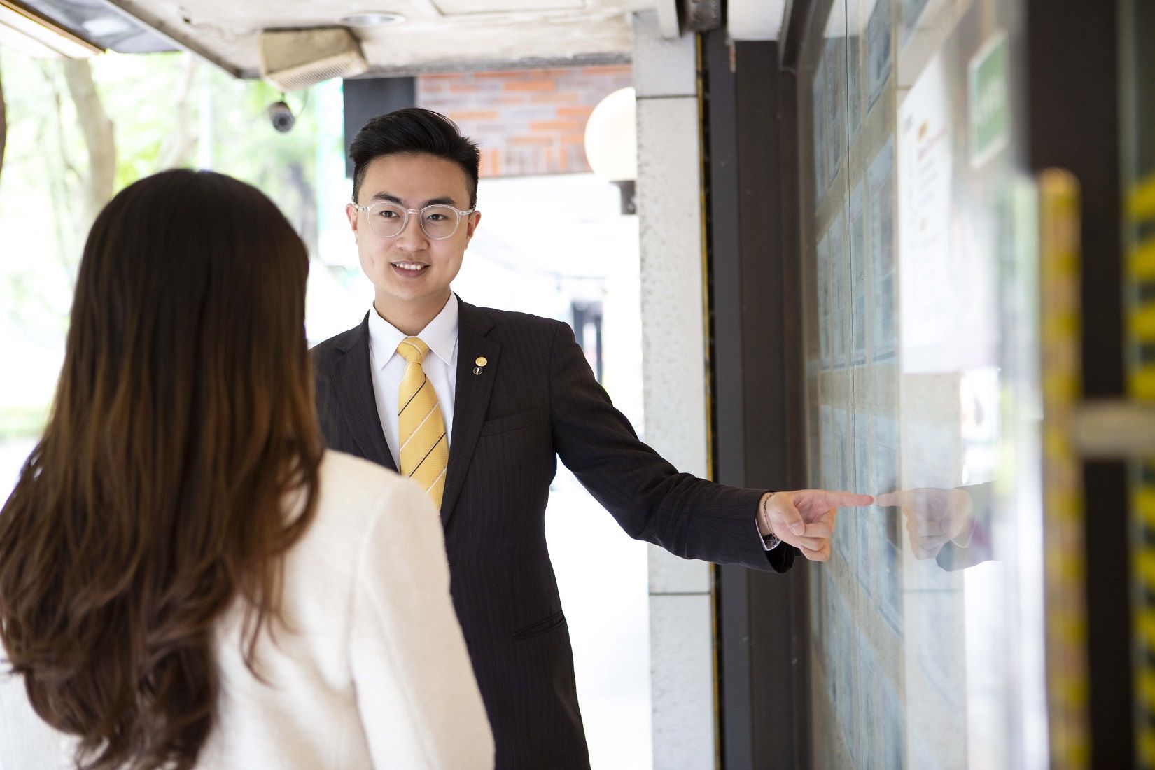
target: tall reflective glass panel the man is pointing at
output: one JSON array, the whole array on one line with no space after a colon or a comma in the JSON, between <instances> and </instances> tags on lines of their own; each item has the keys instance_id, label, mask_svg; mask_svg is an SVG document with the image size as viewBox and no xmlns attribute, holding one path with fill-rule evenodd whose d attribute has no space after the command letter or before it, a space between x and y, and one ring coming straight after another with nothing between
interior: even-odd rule
<instances>
[{"instance_id":1,"label":"tall reflective glass panel the man is pointing at","mask_svg":"<svg viewBox=\"0 0 1155 770\"><path fill-rule=\"evenodd\" d=\"M811 484L878 495L810 577L815 768L1045 767L1020 5L836 0L804 43Z\"/></svg>"}]
</instances>

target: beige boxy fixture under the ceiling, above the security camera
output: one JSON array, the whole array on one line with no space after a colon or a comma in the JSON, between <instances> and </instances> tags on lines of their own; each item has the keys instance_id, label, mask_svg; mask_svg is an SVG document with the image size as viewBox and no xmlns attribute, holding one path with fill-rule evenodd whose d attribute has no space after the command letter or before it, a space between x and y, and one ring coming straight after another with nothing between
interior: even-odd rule
<instances>
[{"instance_id":1,"label":"beige boxy fixture under the ceiling, above the security camera","mask_svg":"<svg viewBox=\"0 0 1155 770\"><path fill-rule=\"evenodd\" d=\"M368 69L357 38L344 27L263 30L259 47L261 77L282 91Z\"/></svg>"}]
</instances>

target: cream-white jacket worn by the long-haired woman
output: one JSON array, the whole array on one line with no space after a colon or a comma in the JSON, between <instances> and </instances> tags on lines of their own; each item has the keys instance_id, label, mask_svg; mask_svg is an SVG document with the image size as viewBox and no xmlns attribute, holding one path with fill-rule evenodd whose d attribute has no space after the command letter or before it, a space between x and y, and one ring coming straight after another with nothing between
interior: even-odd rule
<instances>
[{"instance_id":1,"label":"cream-white jacket worn by the long-haired woman","mask_svg":"<svg viewBox=\"0 0 1155 770\"><path fill-rule=\"evenodd\" d=\"M285 554L281 610L245 665L245 604L216 622L217 719L198 770L487 770L493 735L420 487L336 451ZM270 621L271 622L271 621ZM75 738L36 716L0 653L0 769L67 770Z\"/></svg>"}]
</instances>

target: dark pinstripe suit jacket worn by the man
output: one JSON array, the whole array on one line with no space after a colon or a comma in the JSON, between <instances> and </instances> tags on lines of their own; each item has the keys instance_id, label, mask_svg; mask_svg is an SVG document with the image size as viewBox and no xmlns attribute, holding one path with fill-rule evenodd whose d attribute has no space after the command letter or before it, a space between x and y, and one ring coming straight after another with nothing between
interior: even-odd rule
<instances>
[{"instance_id":1,"label":"dark pinstripe suit jacket worn by the man","mask_svg":"<svg viewBox=\"0 0 1155 770\"><path fill-rule=\"evenodd\" d=\"M479 375L478 357L487 359ZM313 361L329 446L396 470L373 396L368 316L314 347ZM545 548L557 458L631 537L679 556L784 571L796 552L762 550L761 489L679 473L639 441L565 323L460 302L455 398L441 521L498 768L588 768Z\"/></svg>"}]
</instances>

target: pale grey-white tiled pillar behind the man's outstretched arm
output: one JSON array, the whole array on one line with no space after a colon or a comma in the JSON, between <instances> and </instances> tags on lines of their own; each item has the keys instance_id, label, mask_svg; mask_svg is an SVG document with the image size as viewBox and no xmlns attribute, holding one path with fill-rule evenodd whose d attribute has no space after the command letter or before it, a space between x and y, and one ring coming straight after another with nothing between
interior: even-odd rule
<instances>
[{"instance_id":1,"label":"pale grey-white tiled pillar behind the man's outstretched arm","mask_svg":"<svg viewBox=\"0 0 1155 770\"><path fill-rule=\"evenodd\" d=\"M698 57L693 35L662 37L634 15L638 217L646 441L707 473L707 351ZM654 767L715 765L710 570L650 546Z\"/></svg>"}]
</instances>

